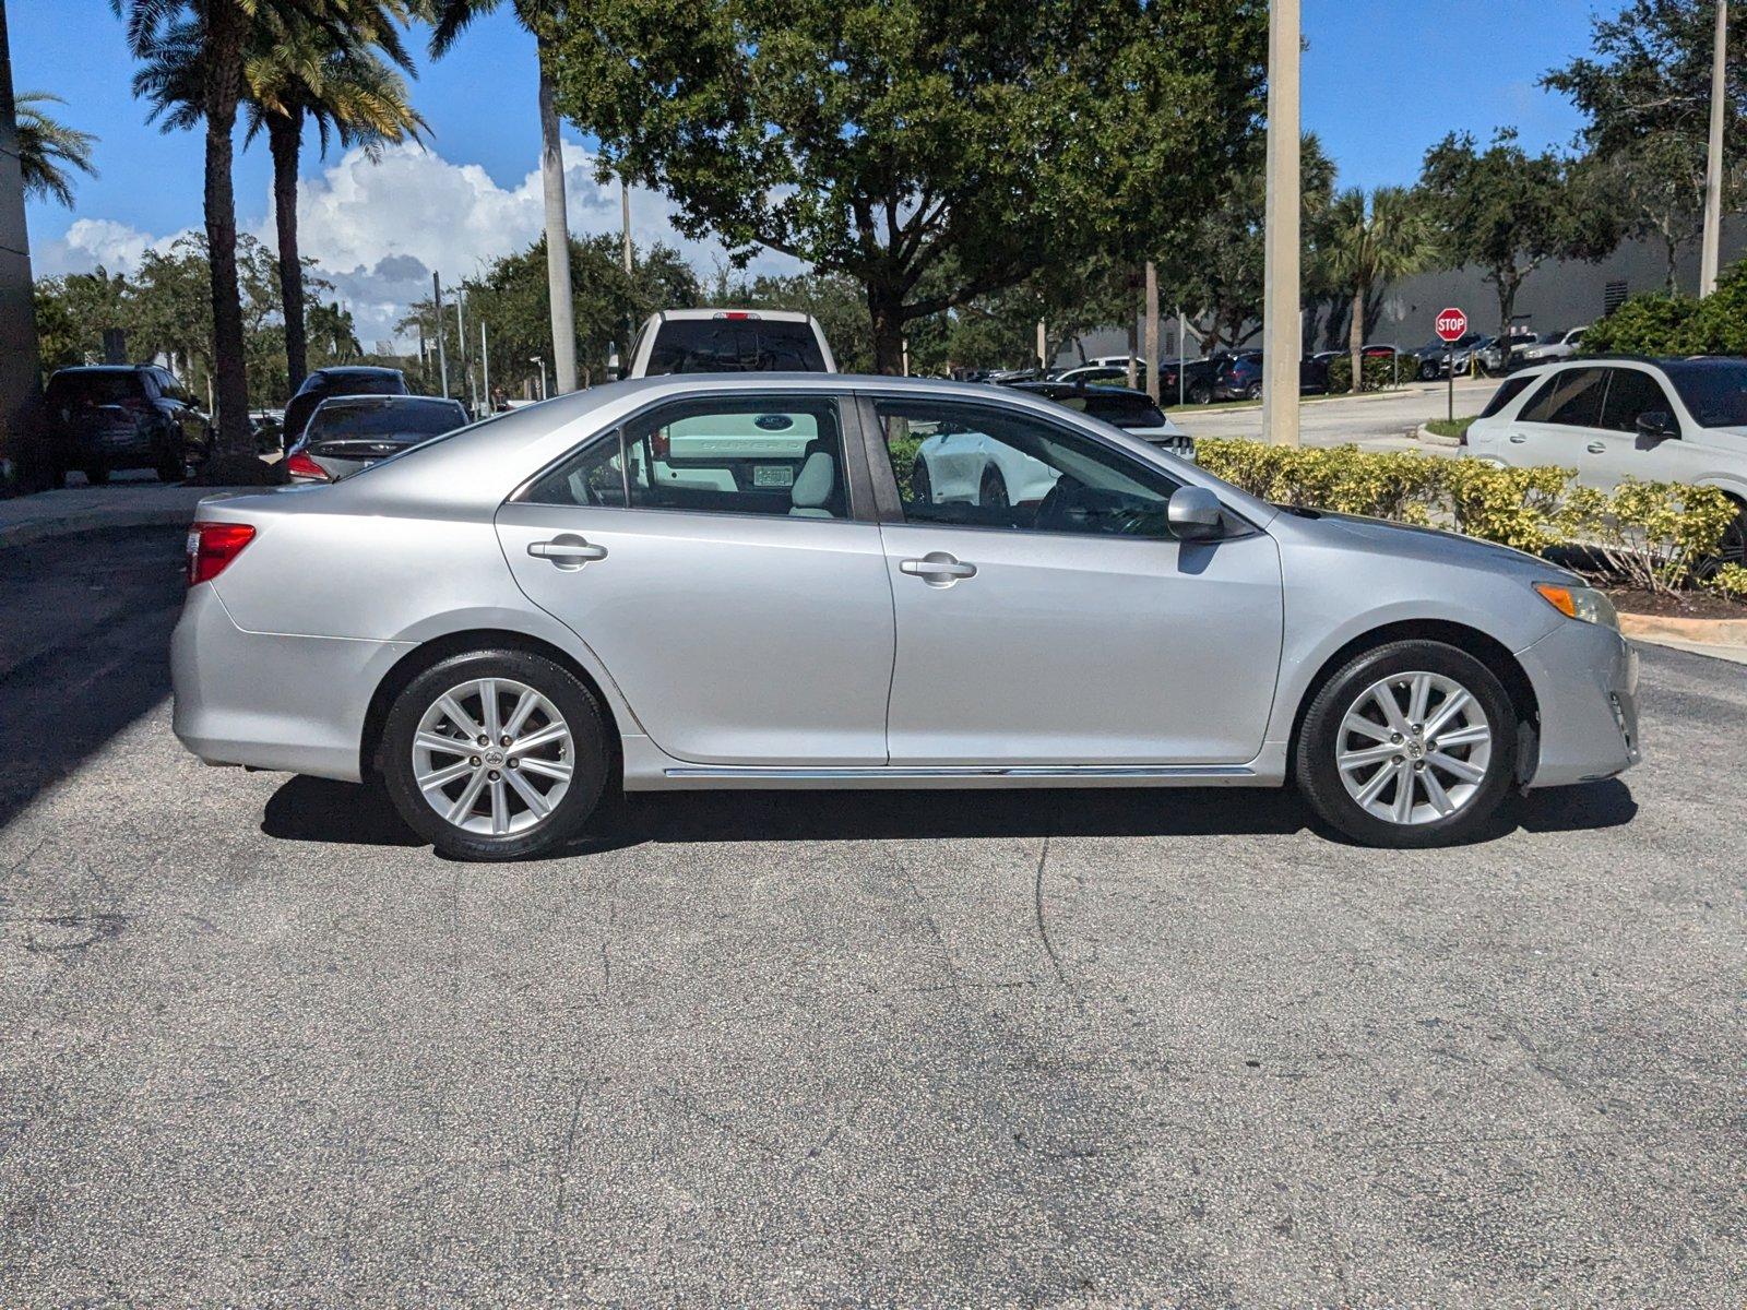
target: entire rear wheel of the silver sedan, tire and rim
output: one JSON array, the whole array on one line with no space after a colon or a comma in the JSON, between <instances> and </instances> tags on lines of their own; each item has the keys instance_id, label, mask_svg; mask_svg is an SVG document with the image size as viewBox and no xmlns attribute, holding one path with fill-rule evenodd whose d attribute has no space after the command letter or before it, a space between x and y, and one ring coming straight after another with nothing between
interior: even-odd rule
<instances>
[{"instance_id":1,"label":"entire rear wheel of the silver sedan, tire and rim","mask_svg":"<svg viewBox=\"0 0 1747 1310\"><path fill-rule=\"evenodd\" d=\"M521 650L456 655L395 699L381 772L400 817L454 859L557 847L608 772L601 709L575 674Z\"/></svg>"}]
</instances>

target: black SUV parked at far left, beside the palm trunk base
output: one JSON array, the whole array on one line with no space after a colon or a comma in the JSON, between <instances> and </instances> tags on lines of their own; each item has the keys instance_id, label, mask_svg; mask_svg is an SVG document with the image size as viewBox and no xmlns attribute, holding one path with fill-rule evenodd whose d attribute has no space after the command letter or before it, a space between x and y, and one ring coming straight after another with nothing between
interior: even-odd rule
<instances>
[{"instance_id":1,"label":"black SUV parked at far left, beside the palm trunk base","mask_svg":"<svg viewBox=\"0 0 1747 1310\"><path fill-rule=\"evenodd\" d=\"M56 369L44 400L54 484L80 470L94 486L117 468L180 482L211 454L211 423L168 369L154 363Z\"/></svg>"}]
</instances>

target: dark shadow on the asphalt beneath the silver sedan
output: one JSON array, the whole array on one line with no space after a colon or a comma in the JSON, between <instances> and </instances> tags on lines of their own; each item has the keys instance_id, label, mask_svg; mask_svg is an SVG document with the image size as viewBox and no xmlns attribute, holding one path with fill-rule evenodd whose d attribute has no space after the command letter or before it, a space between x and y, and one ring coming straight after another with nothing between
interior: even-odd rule
<instances>
[{"instance_id":1,"label":"dark shadow on the asphalt beneath the silver sedan","mask_svg":"<svg viewBox=\"0 0 1747 1310\"><path fill-rule=\"evenodd\" d=\"M1478 840L1612 828L1637 803L1623 783L1532 791ZM964 837L1218 837L1312 830L1288 789L1062 788L1015 791L669 791L610 796L589 830L549 859L678 842L887 842ZM288 842L419 845L381 788L293 777L269 800L262 833Z\"/></svg>"}]
</instances>

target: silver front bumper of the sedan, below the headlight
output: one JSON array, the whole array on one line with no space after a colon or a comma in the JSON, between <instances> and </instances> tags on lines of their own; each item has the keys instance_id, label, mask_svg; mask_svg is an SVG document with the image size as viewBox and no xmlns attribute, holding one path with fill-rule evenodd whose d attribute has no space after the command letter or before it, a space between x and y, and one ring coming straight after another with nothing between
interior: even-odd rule
<instances>
[{"instance_id":1,"label":"silver front bumper of the sedan, below the headlight","mask_svg":"<svg viewBox=\"0 0 1747 1310\"><path fill-rule=\"evenodd\" d=\"M1541 704L1541 749L1529 786L1614 777L1642 762L1639 658L1619 632L1567 620L1516 658Z\"/></svg>"}]
</instances>

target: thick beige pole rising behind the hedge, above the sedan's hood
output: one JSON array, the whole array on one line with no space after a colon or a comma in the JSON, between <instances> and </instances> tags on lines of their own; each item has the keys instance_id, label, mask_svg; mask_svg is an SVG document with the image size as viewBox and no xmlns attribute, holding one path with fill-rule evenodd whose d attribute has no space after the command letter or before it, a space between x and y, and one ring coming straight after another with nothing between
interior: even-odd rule
<instances>
[{"instance_id":1,"label":"thick beige pole rising behind the hedge, above the sedan's hood","mask_svg":"<svg viewBox=\"0 0 1747 1310\"><path fill-rule=\"evenodd\" d=\"M1298 445L1298 0L1268 0L1268 199L1263 229L1261 433Z\"/></svg>"}]
</instances>

